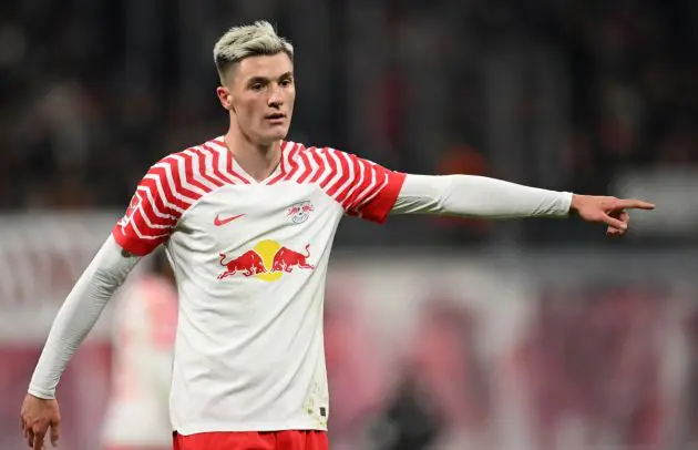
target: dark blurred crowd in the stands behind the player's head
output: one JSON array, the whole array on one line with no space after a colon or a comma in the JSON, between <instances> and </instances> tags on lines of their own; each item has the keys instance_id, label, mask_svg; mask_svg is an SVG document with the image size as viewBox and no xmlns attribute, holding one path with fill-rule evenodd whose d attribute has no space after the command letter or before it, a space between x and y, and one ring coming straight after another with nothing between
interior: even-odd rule
<instances>
[{"instance_id":1,"label":"dark blurred crowd in the stands behind the player's head","mask_svg":"<svg viewBox=\"0 0 698 450\"><path fill-rule=\"evenodd\" d=\"M290 139L605 193L619 171L698 162L697 4L3 2L0 208L125 207L151 164L225 132L212 47L259 18L297 44ZM439 224L448 242L491 235Z\"/></svg>"}]
</instances>

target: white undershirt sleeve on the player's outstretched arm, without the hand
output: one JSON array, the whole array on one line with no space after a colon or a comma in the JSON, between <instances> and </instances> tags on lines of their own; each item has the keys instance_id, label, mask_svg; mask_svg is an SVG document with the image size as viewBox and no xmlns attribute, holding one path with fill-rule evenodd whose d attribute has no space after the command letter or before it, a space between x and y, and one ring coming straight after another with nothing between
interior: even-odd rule
<instances>
[{"instance_id":1,"label":"white undershirt sleeve on the player's outstretched arm, without the hand","mask_svg":"<svg viewBox=\"0 0 698 450\"><path fill-rule=\"evenodd\" d=\"M407 175L391 214L566 216L572 193L474 175Z\"/></svg>"}]
</instances>

